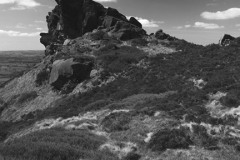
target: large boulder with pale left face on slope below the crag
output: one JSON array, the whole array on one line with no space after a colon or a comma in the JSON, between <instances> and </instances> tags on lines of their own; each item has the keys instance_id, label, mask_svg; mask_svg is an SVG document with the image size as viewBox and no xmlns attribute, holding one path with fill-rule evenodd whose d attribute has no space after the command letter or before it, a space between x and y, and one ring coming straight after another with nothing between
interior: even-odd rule
<instances>
[{"instance_id":1,"label":"large boulder with pale left face on slope below the crag","mask_svg":"<svg viewBox=\"0 0 240 160\"><path fill-rule=\"evenodd\" d=\"M90 77L92 67L93 63L85 59L56 60L52 65L49 84L61 89L69 80L84 81Z\"/></svg>"}]
</instances>

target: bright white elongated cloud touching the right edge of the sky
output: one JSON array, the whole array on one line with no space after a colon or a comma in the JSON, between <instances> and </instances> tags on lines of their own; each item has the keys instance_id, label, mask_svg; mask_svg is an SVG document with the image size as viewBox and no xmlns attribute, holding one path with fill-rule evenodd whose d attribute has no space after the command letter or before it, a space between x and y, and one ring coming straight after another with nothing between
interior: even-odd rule
<instances>
[{"instance_id":1,"label":"bright white elongated cloud touching the right edge of the sky","mask_svg":"<svg viewBox=\"0 0 240 160\"><path fill-rule=\"evenodd\" d=\"M240 17L240 8L230 8L225 11L203 12L201 17L205 19L225 20Z\"/></svg>"}]
</instances>

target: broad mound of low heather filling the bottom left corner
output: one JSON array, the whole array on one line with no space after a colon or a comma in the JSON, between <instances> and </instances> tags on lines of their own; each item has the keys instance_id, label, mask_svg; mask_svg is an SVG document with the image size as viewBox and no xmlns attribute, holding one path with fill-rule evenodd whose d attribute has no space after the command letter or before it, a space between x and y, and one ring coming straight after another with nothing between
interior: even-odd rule
<instances>
[{"instance_id":1,"label":"broad mound of low heather filling the bottom left corner","mask_svg":"<svg viewBox=\"0 0 240 160\"><path fill-rule=\"evenodd\" d=\"M60 128L38 131L0 146L1 155L24 160L117 160L111 153L99 151L104 137L87 131Z\"/></svg>"}]
</instances>

